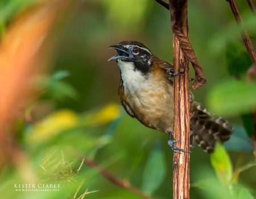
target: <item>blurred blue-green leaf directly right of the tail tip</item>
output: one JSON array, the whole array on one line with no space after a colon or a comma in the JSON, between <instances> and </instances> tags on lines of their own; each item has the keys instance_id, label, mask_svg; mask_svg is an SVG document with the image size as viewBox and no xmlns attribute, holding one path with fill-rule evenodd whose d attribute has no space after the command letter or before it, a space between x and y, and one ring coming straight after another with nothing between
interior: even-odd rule
<instances>
[{"instance_id":1,"label":"blurred blue-green leaf directly right of the tail tip","mask_svg":"<svg viewBox=\"0 0 256 199\"><path fill-rule=\"evenodd\" d=\"M253 152L253 141L246 135L245 129L240 125L233 125L234 132L228 142L224 143L227 150Z\"/></svg>"}]
</instances>

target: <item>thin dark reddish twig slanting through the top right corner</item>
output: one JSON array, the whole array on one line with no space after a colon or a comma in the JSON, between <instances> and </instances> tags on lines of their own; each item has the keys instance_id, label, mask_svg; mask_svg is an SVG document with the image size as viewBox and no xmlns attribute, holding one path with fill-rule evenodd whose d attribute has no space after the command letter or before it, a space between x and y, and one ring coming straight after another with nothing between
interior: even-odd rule
<instances>
[{"instance_id":1,"label":"thin dark reddish twig slanting through the top right corner","mask_svg":"<svg viewBox=\"0 0 256 199\"><path fill-rule=\"evenodd\" d=\"M234 14L234 17L236 18L237 24L239 26L243 26L242 16L239 13L237 3L234 0L228 0L228 2L231 7L232 13ZM250 40L247 30L243 29L241 34L242 34L242 38L243 38L243 43L245 44L245 47L246 47L247 51L249 52L251 59L254 62L256 62L256 53L254 51L253 44L251 44L251 40Z\"/></svg>"}]
</instances>

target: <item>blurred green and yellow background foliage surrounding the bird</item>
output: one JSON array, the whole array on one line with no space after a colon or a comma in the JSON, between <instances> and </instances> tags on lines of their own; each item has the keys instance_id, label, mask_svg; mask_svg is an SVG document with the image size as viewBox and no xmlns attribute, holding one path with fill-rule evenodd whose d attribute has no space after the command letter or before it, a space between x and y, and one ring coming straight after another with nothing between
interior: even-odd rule
<instances>
[{"instance_id":1,"label":"blurred green and yellow background foliage surrounding the bird","mask_svg":"<svg viewBox=\"0 0 256 199\"><path fill-rule=\"evenodd\" d=\"M1 36L31 3L36 1L0 1ZM255 37L255 16L246 1L238 6ZM2 168L1 192L5 198L141 198L86 167L85 157L152 198L170 198L172 151L167 135L127 116L119 106L117 65L106 61L113 53L108 46L122 40L139 40L161 59L172 60L168 11L151 0L77 1L74 10L52 33L60 42L52 72L39 78L38 98L27 107L32 122L19 118L15 128L31 164L27 173L36 176L36 183L61 183L61 188L15 191L14 183L24 182L26 173L13 165ZM245 133L251 135L250 117L243 119L248 123L243 128L240 115L255 107L256 86L245 80L251 61L240 28L226 1L189 1L188 14L190 40L207 77L207 84L194 92L196 100L236 129L226 149L218 144L211 156L193 149L191 198L254 198L253 145Z\"/></svg>"}]
</instances>

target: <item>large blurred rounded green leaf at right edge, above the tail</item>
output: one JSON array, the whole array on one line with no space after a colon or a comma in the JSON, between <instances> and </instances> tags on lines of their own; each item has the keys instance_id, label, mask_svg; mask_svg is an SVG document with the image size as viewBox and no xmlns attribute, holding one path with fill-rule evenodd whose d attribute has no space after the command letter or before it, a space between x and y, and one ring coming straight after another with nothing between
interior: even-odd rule
<instances>
[{"instance_id":1,"label":"large blurred rounded green leaf at right edge, above the tail","mask_svg":"<svg viewBox=\"0 0 256 199\"><path fill-rule=\"evenodd\" d=\"M248 113L256 106L256 84L228 79L216 84L207 100L210 109L223 116Z\"/></svg>"}]
</instances>

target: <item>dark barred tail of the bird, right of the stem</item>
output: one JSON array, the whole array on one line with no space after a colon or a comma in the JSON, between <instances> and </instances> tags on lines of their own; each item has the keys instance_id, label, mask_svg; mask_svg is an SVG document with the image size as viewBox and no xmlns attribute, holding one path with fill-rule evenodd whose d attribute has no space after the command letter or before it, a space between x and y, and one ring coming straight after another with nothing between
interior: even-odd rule
<instances>
[{"instance_id":1,"label":"dark barred tail of the bird, right of the stem","mask_svg":"<svg viewBox=\"0 0 256 199\"><path fill-rule=\"evenodd\" d=\"M191 103L191 142L196 142L207 153L214 151L216 141L229 140L233 127L225 119L213 115L197 102Z\"/></svg>"}]
</instances>

